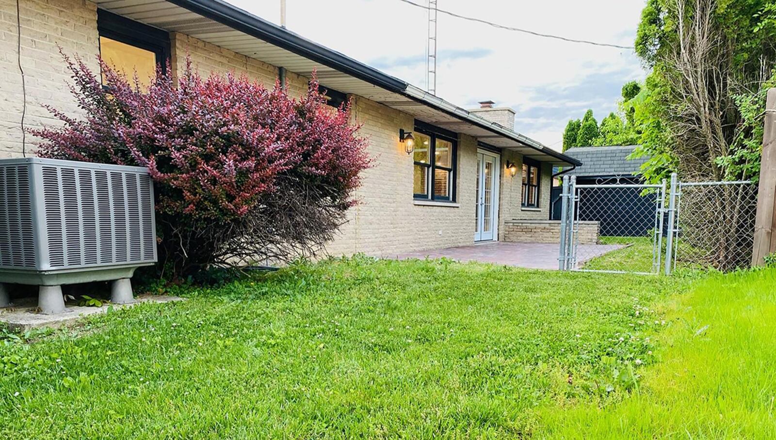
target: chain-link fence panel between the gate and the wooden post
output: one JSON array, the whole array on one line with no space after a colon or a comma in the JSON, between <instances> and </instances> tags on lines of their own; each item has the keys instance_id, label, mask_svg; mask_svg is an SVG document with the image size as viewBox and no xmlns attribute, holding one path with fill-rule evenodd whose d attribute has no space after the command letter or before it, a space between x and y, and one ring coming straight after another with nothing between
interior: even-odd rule
<instances>
[{"instance_id":1,"label":"chain-link fence panel between the gate and the wooden post","mask_svg":"<svg viewBox=\"0 0 776 440\"><path fill-rule=\"evenodd\" d=\"M730 271L751 265L757 185L680 183L674 267Z\"/></svg>"}]
</instances>

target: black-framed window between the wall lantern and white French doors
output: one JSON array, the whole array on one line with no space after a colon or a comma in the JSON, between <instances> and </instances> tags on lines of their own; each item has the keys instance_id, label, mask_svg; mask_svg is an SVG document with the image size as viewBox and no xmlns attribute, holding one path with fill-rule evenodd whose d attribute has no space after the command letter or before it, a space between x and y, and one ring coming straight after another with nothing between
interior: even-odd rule
<instances>
[{"instance_id":1,"label":"black-framed window between the wall lantern and white French doors","mask_svg":"<svg viewBox=\"0 0 776 440\"><path fill-rule=\"evenodd\" d=\"M418 126L415 138L413 193L415 199L452 202L456 199L455 133Z\"/></svg>"}]
</instances>

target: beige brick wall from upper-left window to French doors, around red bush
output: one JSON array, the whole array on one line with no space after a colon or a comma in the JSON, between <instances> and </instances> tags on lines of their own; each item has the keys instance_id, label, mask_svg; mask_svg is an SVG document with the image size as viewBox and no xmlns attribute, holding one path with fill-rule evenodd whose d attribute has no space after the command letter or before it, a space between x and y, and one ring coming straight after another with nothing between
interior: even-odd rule
<instances>
[{"instance_id":1,"label":"beige brick wall from upper-left window to French doors, around red bush","mask_svg":"<svg viewBox=\"0 0 776 440\"><path fill-rule=\"evenodd\" d=\"M180 74L189 56L200 74L234 71L265 86L274 84L277 68L181 33L171 34L171 64ZM306 90L307 78L287 74L289 90ZM360 96L353 97L353 117L369 139L372 168L362 175L360 200L348 213L348 223L327 244L331 255L363 252L389 256L443 246L471 244L474 240L474 178L476 140L462 136L458 146L457 199L461 206L418 206L412 196L412 157L399 142L399 129L413 130L413 116ZM471 208L471 209L469 209Z\"/></svg>"}]
</instances>

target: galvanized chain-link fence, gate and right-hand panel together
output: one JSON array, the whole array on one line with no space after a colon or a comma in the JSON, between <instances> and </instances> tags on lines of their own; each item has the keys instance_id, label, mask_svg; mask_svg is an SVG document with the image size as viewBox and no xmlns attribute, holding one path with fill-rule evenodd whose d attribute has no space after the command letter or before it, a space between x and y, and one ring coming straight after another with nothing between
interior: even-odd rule
<instances>
[{"instance_id":1,"label":"galvanized chain-link fence, gate and right-hand panel together","mask_svg":"<svg viewBox=\"0 0 776 440\"><path fill-rule=\"evenodd\" d=\"M577 184L563 178L559 269L670 274L750 265L757 185L740 182Z\"/></svg>"}]
</instances>

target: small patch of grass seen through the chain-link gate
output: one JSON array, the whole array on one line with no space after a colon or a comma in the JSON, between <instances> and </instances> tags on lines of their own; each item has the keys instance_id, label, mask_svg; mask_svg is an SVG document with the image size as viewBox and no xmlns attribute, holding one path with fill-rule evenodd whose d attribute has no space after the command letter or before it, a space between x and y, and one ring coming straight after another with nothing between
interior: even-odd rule
<instances>
[{"instance_id":1,"label":"small patch of grass seen through the chain-link gate","mask_svg":"<svg viewBox=\"0 0 776 440\"><path fill-rule=\"evenodd\" d=\"M652 237L600 237L599 243L625 244L627 247L592 258L584 263L582 269L653 272Z\"/></svg>"}]
</instances>

